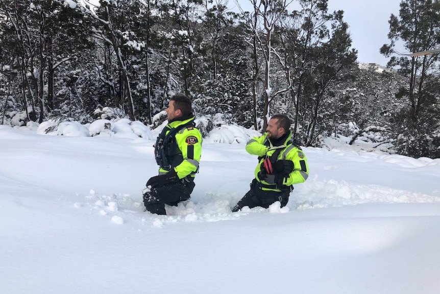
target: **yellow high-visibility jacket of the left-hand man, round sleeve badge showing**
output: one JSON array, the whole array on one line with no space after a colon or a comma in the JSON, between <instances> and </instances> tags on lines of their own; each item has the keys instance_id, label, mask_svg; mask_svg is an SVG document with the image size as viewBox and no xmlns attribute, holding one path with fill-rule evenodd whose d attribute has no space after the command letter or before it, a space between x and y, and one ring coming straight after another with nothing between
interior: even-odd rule
<instances>
[{"instance_id":1,"label":"yellow high-visibility jacket of the left-hand man, round sleeve badge showing","mask_svg":"<svg viewBox=\"0 0 440 294\"><path fill-rule=\"evenodd\" d=\"M194 117L191 117L182 121L170 122L165 126L166 137L173 129L186 125L173 136L174 138L170 138L169 142L164 144L163 154L165 154L169 164L160 166L159 174L166 174L170 169L174 168L179 178L186 176L194 178L195 173L199 169L200 157L202 155L202 134L194 127L193 121ZM157 142L156 145L158 145ZM156 157L160 153L158 152L158 147L160 148L160 146L155 146Z\"/></svg>"}]
</instances>

